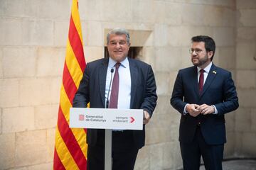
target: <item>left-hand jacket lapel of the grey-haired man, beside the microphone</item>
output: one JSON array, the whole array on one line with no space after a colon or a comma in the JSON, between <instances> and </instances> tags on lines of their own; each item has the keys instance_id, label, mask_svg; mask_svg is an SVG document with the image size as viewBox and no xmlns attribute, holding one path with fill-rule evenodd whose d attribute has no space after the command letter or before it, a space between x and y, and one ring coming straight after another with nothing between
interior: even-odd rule
<instances>
[{"instance_id":1,"label":"left-hand jacket lapel of the grey-haired man, beside the microphone","mask_svg":"<svg viewBox=\"0 0 256 170\"><path fill-rule=\"evenodd\" d=\"M102 65L100 66L100 69L99 69L100 96L102 98L102 103L104 106L105 106L107 65L108 65L108 59L103 60Z\"/></svg>"}]
</instances>

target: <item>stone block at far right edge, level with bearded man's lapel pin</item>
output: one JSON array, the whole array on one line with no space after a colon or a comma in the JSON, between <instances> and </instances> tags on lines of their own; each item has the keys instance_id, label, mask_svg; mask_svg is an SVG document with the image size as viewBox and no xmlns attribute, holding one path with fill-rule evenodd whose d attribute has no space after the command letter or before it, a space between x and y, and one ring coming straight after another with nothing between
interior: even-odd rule
<instances>
[{"instance_id":1,"label":"stone block at far right edge, level with bearded man's lapel pin","mask_svg":"<svg viewBox=\"0 0 256 170\"><path fill-rule=\"evenodd\" d=\"M249 76L250 75L250 76ZM238 88L256 89L256 72L255 70L238 70L237 71Z\"/></svg>"}]
</instances>

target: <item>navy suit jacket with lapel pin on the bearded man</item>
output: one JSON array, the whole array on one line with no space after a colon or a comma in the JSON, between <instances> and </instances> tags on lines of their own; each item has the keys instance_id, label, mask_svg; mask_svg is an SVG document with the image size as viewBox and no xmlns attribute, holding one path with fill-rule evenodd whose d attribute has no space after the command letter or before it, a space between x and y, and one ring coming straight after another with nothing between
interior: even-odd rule
<instances>
[{"instance_id":1,"label":"navy suit jacket with lapel pin on the bearded man","mask_svg":"<svg viewBox=\"0 0 256 170\"><path fill-rule=\"evenodd\" d=\"M186 103L214 105L218 114L198 115L196 118L187 113L183 115ZM238 97L231 73L213 64L199 96L197 68L188 67L178 72L174 91L171 96L171 106L181 113L179 140L191 142L196 132L198 121L201 122L201 132L206 143L220 145L226 142L224 114L238 108Z\"/></svg>"}]
</instances>

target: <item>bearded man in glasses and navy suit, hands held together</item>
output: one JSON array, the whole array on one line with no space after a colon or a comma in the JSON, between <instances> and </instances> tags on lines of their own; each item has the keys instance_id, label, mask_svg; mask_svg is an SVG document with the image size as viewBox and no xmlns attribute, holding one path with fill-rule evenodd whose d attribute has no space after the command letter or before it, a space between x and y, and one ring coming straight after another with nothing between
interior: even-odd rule
<instances>
[{"instance_id":1,"label":"bearded man in glasses and navy suit, hands held together","mask_svg":"<svg viewBox=\"0 0 256 170\"><path fill-rule=\"evenodd\" d=\"M231 73L212 60L215 42L195 36L190 49L193 67L178 71L171 106L181 113L179 141L183 169L199 169L201 156L206 169L222 169L225 113L238 108Z\"/></svg>"}]
</instances>

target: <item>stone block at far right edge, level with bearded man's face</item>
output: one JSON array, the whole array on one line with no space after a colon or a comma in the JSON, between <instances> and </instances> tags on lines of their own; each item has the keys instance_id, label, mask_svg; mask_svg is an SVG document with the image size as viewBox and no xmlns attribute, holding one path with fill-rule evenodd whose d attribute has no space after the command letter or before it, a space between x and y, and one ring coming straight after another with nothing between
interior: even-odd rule
<instances>
[{"instance_id":1,"label":"stone block at far right edge, level with bearded man's face","mask_svg":"<svg viewBox=\"0 0 256 170\"><path fill-rule=\"evenodd\" d=\"M256 69L256 42L238 42L236 45L236 68Z\"/></svg>"}]
</instances>

